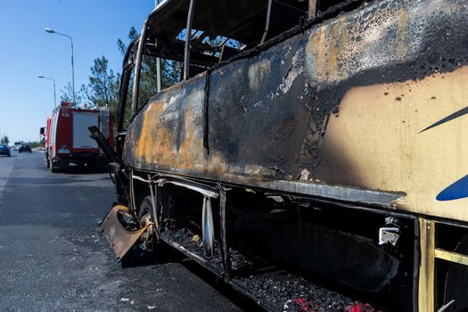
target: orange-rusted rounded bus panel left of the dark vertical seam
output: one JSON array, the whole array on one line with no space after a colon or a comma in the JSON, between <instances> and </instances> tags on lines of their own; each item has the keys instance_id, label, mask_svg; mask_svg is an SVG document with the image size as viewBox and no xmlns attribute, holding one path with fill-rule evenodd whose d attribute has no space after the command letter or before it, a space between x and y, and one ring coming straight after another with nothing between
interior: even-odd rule
<instances>
[{"instance_id":1,"label":"orange-rusted rounded bus panel left of the dark vertical seam","mask_svg":"<svg viewBox=\"0 0 468 312\"><path fill-rule=\"evenodd\" d=\"M202 75L153 96L127 129L126 164L174 173L206 168L204 86Z\"/></svg>"}]
</instances>

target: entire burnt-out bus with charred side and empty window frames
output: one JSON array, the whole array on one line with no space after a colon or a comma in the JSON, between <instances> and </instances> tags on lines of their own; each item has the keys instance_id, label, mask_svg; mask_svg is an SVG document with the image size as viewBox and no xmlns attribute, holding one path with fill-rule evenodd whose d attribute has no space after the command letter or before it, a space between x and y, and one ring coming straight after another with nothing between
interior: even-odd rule
<instances>
[{"instance_id":1,"label":"entire burnt-out bus with charred side and empty window frames","mask_svg":"<svg viewBox=\"0 0 468 312\"><path fill-rule=\"evenodd\" d=\"M273 310L468 308L467 30L464 1L160 4L124 61L119 259L164 241ZM156 58L181 82L148 99Z\"/></svg>"}]
</instances>

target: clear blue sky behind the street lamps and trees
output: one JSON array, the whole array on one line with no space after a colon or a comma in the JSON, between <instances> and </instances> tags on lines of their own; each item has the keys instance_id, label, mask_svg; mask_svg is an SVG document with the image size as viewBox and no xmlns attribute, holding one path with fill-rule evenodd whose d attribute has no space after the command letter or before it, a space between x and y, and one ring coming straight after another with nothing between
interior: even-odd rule
<instances>
[{"instance_id":1,"label":"clear blue sky behind the street lamps and trees","mask_svg":"<svg viewBox=\"0 0 468 312\"><path fill-rule=\"evenodd\" d=\"M37 141L39 127L53 110L54 78L60 89L71 82L70 39L73 37L75 89L87 84L93 60L105 56L121 71L121 38L141 31L154 0L0 0L0 135L10 141Z\"/></svg>"}]
</instances>

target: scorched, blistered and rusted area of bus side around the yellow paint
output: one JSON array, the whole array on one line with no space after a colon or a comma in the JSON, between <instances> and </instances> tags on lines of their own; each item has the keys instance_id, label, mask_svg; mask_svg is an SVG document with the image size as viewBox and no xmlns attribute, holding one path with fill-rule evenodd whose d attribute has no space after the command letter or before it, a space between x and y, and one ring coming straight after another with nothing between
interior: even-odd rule
<instances>
[{"instance_id":1,"label":"scorched, blistered and rusted area of bus side around the yellow paint","mask_svg":"<svg viewBox=\"0 0 468 312\"><path fill-rule=\"evenodd\" d=\"M127 151L137 151L127 160L136 168L216 180L294 180L304 168L314 179L324 161L329 116L338 117L345 94L359 86L411 85L462 68L467 17L466 4L435 0L373 2L316 24L319 16L304 33L293 29L156 95L136 117L142 122L128 131L138 144L126 141ZM188 96L174 102L178 115L168 104L177 94ZM391 103L400 98L398 105L406 102L401 94L385 92ZM349 179L333 183L374 187Z\"/></svg>"}]
</instances>

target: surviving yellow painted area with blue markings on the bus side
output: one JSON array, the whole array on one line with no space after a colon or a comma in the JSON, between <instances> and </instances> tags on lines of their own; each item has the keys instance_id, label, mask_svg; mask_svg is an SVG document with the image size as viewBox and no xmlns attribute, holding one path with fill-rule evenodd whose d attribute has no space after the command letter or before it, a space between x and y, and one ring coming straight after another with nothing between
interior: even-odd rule
<instances>
[{"instance_id":1,"label":"surviving yellow painted area with blue markings on the bus side","mask_svg":"<svg viewBox=\"0 0 468 312\"><path fill-rule=\"evenodd\" d=\"M350 89L324 135L313 173L331 184L404 192L397 208L468 221L468 199L436 196L468 174L468 67L422 80Z\"/></svg>"}]
</instances>

